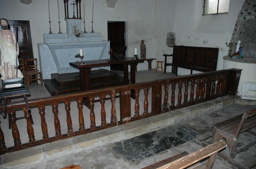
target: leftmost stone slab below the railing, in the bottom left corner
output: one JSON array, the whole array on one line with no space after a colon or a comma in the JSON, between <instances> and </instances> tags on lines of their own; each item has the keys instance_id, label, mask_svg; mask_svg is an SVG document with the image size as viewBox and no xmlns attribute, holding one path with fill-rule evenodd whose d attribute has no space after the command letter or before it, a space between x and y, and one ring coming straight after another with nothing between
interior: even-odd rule
<instances>
[{"instance_id":1,"label":"leftmost stone slab below the railing, in the bottom left corner","mask_svg":"<svg viewBox=\"0 0 256 169\"><path fill-rule=\"evenodd\" d=\"M41 146L28 148L25 150L6 153L2 156L2 167L14 168L24 165L38 163L44 157L43 148Z\"/></svg>"}]
</instances>

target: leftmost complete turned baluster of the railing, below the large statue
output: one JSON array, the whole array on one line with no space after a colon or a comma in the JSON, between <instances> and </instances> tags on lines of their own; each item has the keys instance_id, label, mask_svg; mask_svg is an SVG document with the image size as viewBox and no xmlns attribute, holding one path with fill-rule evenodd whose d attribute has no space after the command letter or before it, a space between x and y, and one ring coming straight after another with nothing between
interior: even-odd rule
<instances>
[{"instance_id":1,"label":"leftmost complete turned baluster of the railing, below the large statue","mask_svg":"<svg viewBox=\"0 0 256 169\"><path fill-rule=\"evenodd\" d=\"M12 137L13 137L13 141L14 141L14 147L15 148L21 147L20 132L19 132L17 124L16 124L15 109L8 110L8 114L9 114L10 120L12 122Z\"/></svg>"}]
</instances>

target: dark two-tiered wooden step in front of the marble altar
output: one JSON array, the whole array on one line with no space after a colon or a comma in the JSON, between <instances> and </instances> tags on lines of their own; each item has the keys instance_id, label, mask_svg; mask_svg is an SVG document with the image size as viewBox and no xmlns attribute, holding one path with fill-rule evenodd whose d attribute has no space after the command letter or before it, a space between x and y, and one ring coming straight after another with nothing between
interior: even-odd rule
<instances>
[{"instance_id":1,"label":"dark two-tiered wooden step in front of the marble altar","mask_svg":"<svg viewBox=\"0 0 256 169\"><path fill-rule=\"evenodd\" d=\"M106 88L124 84L124 77L106 69L90 72L91 89ZM44 86L50 95L62 95L81 91L79 73L51 74L44 80Z\"/></svg>"}]
</instances>

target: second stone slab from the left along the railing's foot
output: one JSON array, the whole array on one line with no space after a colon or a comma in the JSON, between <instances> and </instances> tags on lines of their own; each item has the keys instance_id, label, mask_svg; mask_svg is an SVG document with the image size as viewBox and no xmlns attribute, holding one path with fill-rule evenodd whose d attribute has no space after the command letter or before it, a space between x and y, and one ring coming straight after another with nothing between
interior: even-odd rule
<instances>
[{"instance_id":1,"label":"second stone slab from the left along the railing's foot","mask_svg":"<svg viewBox=\"0 0 256 169\"><path fill-rule=\"evenodd\" d=\"M46 153L47 158L65 151L73 150L74 148L75 146L72 142L72 138L44 144L44 152Z\"/></svg>"}]
</instances>

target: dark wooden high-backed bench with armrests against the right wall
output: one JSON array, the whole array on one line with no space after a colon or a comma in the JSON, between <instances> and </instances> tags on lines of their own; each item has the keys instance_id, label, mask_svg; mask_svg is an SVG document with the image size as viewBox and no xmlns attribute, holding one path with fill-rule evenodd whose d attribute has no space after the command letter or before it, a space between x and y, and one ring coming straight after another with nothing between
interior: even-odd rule
<instances>
[{"instance_id":1,"label":"dark wooden high-backed bench with armrests against the right wall","mask_svg":"<svg viewBox=\"0 0 256 169\"><path fill-rule=\"evenodd\" d=\"M200 72L216 71L219 48L173 46L173 54L164 54L164 73L166 66L172 66L172 73L178 73L178 67ZM172 56L172 63L167 63L167 57Z\"/></svg>"}]
</instances>

